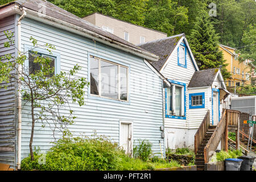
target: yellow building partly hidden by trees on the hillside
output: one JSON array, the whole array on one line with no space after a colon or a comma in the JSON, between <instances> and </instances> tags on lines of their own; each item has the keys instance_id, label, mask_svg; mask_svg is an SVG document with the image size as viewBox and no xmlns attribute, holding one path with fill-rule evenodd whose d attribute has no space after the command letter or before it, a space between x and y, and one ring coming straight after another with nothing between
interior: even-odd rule
<instances>
[{"instance_id":1,"label":"yellow building partly hidden by trees on the hillside","mask_svg":"<svg viewBox=\"0 0 256 182\"><path fill-rule=\"evenodd\" d=\"M238 61L238 54L236 49L222 44L219 45L220 50L223 52L225 63L228 64L226 69L231 73L231 77L226 79L226 86L242 86L251 84L251 67L250 60L240 63Z\"/></svg>"}]
</instances>

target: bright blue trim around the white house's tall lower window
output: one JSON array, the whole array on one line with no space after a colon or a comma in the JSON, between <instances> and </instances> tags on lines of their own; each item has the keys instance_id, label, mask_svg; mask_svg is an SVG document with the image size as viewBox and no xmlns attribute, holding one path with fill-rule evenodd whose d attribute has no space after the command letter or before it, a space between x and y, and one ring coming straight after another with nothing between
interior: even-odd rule
<instances>
[{"instance_id":1,"label":"bright blue trim around the white house's tall lower window","mask_svg":"<svg viewBox=\"0 0 256 182\"><path fill-rule=\"evenodd\" d=\"M170 81L172 84L176 84L176 85L182 85L184 86L184 117L182 116L176 116L176 115L168 115L167 114L167 88L165 89L165 93L166 93L166 118L174 118L174 119L186 119L186 84L183 82L179 82L179 81L174 81L174 80L168 80Z\"/></svg>"}]
</instances>

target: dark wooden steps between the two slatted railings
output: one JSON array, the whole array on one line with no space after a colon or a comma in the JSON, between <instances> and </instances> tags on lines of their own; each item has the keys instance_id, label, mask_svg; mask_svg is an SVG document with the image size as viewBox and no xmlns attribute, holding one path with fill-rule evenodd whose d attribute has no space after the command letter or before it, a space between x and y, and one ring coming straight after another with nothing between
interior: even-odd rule
<instances>
[{"instance_id":1,"label":"dark wooden steps between the two slatted railings","mask_svg":"<svg viewBox=\"0 0 256 182\"><path fill-rule=\"evenodd\" d=\"M205 133L205 136L196 152L196 160L195 164L197 167L197 171L204 171L204 148L207 146L207 143L209 142L210 137L212 137L212 134L214 130L216 129L216 126L209 126L207 132Z\"/></svg>"}]
</instances>

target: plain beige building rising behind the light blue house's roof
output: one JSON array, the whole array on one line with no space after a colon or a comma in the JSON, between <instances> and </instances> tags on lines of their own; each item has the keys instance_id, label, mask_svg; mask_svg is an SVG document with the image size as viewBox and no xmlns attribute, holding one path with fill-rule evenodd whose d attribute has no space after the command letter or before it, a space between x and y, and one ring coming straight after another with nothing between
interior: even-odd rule
<instances>
[{"instance_id":1,"label":"plain beige building rising behind the light blue house's roof","mask_svg":"<svg viewBox=\"0 0 256 182\"><path fill-rule=\"evenodd\" d=\"M83 19L135 45L167 37L164 32L138 26L100 13L90 14Z\"/></svg>"}]
</instances>

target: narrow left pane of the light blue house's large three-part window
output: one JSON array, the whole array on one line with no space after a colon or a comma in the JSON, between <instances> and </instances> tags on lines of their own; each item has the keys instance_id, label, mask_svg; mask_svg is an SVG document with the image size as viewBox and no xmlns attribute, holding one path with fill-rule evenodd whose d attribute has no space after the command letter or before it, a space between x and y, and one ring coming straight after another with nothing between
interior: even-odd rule
<instances>
[{"instance_id":1,"label":"narrow left pane of the light blue house's large three-part window","mask_svg":"<svg viewBox=\"0 0 256 182\"><path fill-rule=\"evenodd\" d=\"M98 59L90 57L90 93L98 95Z\"/></svg>"}]
</instances>

